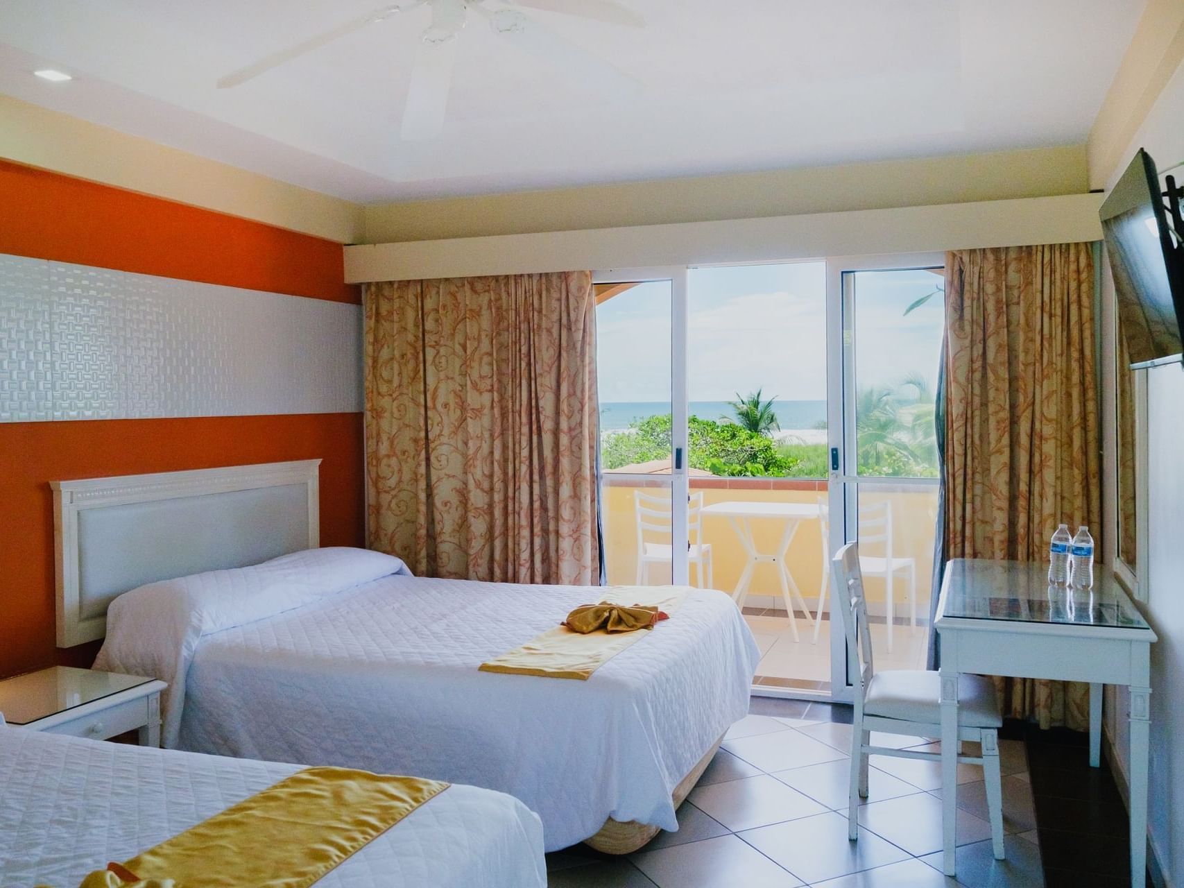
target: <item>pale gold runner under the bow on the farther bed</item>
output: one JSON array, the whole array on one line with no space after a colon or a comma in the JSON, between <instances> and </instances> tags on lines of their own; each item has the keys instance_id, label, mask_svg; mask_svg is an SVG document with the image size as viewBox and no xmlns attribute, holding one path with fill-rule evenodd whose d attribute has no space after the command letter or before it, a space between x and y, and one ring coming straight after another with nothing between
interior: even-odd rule
<instances>
[{"instance_id":1,"label":"pale gold runner under the bow on the farther bed","mask_svg":"<svg viewBox=\"0 0 1184 888\"><path fill-rule=\"evenodd\" d=\"M642 605L674 613L687 592L671 586L612 586L600 600L610 604ZM581 635L567 626L555 626L500 657L482 663L483 673L541 675L547 678L587 681L597 669L642 638L648 630L609 633L603 629Z\"/></svg>"}]
</instances>

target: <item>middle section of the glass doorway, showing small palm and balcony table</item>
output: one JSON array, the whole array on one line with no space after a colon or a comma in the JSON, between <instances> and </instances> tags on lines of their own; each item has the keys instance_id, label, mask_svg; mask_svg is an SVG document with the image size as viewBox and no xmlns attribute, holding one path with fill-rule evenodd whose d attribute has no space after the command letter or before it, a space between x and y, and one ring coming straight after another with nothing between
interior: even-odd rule
<instances>
[{"instance_id":1,"label":"middle section of the glass doorway, showing small palm and balcony table","mask_svg":"<svg viewBox=\"0 0 1184 888\"><path fill-rule=\"evenodd\" d=\"M760 645L755 686L829 693L826 265L693 268L687 302L691 523Z\"/></svg>"}]
</instances>

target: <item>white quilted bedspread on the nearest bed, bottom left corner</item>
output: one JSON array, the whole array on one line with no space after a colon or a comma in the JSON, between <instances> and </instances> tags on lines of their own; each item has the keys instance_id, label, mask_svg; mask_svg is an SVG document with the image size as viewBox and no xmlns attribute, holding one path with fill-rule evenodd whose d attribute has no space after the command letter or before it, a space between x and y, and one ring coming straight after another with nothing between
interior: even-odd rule
<instances>
[{"instance_id":1,"label":"white quilted bedspread on the nearest bed, bottom left corner","mask_svg":"<svg viewBox=\"0 0 1184 888\"><path fill-rule=\"evenodd\" d=\"M0 727L0 886L75 888L298 771ZM516 799L450 786L317 888L543 888L539 818Z\"/></svg>"}]
</instances>

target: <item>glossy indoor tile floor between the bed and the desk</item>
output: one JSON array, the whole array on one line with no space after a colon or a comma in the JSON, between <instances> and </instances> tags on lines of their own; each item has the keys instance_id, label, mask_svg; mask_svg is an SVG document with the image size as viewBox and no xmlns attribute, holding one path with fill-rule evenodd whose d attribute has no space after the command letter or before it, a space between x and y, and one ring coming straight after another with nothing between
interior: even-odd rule
<instances>
[{"instance_id":1,"label":"glossy indoor tile floor between the bed and the desk","mask_svg":"<svg viewBox=\"0 0 1184 888\"><path fill-rule=\"evenodd\" d=\"M847 838L851 728L825 703L800 718L749 715L728 732L678 809L678 831L609 858L583 847L547 855L554 888L1029 888L1043 884L1028 761L1000 741L1005 861L991 856L982 768L960 766L958 879L941 874L938 766L873 757L860 838ZM876 736L877 742L889 740ZM892 738L926 746L925 738Z\"/></svg>"}]
</instances>

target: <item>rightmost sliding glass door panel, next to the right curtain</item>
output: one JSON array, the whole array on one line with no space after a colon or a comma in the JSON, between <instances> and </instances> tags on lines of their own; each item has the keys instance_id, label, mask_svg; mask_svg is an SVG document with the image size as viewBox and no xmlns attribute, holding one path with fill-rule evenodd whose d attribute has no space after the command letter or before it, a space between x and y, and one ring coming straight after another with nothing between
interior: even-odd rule
<instances>
[{"instance_id":1,"label":"rightmost sliding glass door panel, next to the right curtain","mask_svg":"<svg viewBox=\"0 0 1184 888\"><path fill-rule=\"evenodd\" d=\"M830 263L839 295L841 435L832 438L831 552L860 543L877 665L924 669L938 516L935 420L942 257ZM845 650L836 644L836 655ZM836 686L850 676L836 657ZM839 678L842 676L842 678Z\"/></svg>"}]
</instances>

